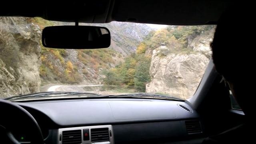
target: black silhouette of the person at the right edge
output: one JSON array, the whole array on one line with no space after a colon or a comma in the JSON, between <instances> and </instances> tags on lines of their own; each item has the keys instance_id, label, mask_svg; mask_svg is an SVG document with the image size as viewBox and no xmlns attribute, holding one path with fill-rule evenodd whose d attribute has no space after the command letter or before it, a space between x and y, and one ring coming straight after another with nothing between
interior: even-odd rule
<instances>
[{"instance_id":1,"label":"black silhouette of the person at the right edge","mask_svg":"<svg viewBox=\"0 0 256 144\"><path fill-rule=\"evenodd\" d=\"M247 5L243 4L246 3ZM206 138L203 144L251 143L254 141L254 47L253 4L232 4L222 14L212 41L212 59L216 70L228 83L242 108L243 124ZM220 117L221 118L221 117ZM233 117L232 117L233 118ZM232 119L238 123L235 117Z\"/></svg>"}]
</instances>

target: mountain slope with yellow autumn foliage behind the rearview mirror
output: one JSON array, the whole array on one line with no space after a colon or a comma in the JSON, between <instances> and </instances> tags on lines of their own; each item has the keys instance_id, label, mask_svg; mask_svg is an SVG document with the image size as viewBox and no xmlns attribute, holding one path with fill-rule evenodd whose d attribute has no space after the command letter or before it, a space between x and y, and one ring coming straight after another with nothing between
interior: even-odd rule
<instances>
[{"instance_id":1,"label":"mountain slope with yellow autumn foliage behind the rearview mirror","mask_svg":"<svg viewBox=\"0 0 256 144\"><path fill-rule=\"evenodd\" d=\"M32 23L43 29L45 26L70 25L72 23L52 22L42 18L31 18ZM146 24L111 22L108 24L80 24L104 26L110 30L111 45L98 50L64 50L42 46L42 84L99 84L103 69L110 69L123 61L149 33Z\"/></svg>"}]
</instances>

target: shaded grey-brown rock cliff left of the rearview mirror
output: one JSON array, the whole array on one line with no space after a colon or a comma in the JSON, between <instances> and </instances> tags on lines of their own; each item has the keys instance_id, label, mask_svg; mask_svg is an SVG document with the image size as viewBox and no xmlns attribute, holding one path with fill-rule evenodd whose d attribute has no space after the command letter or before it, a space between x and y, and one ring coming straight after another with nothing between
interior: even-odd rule
<instances>
[{"instance_id":1,"label":"shaded grey-brown rock cliff left of the rearview mirror","mask_svg":"<svg viewBox=\"0 0 256 144\"><path fill-rule=\"evenodd\" d=\"M27 18L0 17L0 97L39 91L40 34Z\"/></svg>"}]
</instances>

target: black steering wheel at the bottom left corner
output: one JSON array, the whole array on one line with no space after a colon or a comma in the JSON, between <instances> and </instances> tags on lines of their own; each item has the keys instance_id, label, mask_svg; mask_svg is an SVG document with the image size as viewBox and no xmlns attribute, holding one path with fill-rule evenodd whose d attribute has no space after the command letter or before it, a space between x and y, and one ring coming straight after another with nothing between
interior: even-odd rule
<instances>
[{"instance_id":1,"label":"black steering wheel at the bottom left corner","mask_svg":"<svg viewBox=\"0 0 256 144\"><path fill-rule=\"evenodd\" d=\"M8 143L20 144L13 135L15 132L25 134L31 144L44 144L42 131L33 116L18 104L0 100L0 134L5 134Z\"/></svg>"}]
</instances>

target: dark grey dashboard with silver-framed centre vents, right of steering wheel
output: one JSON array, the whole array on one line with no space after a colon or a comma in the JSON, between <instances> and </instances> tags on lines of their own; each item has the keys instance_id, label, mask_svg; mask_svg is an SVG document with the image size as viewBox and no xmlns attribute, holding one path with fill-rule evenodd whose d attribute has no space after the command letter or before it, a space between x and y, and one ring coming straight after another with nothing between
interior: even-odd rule
<instances>
[{"instance_id":1,"label":"dark grey dashboard with silver-framed centre vents, right of steering wheel","mask_svg":"<svg viewBox=\"0 0 256 144\"><path fill-rule=\"evenodd\" d=\"M67 138L64 134L75 133L75 130L80 132L77 143L82 144L97 143L93 137L101 138L99 142L106 144L200 143L204 138L199 115L182 101L107 98L16 104L32 114L42 130L45 143L49 144L72 143L68 139L71 136ZM101 128L108 128L107 135L94 136ZM89 131L85 133L84 130ZM83 138L85 135L89 140ZM189 141L191 137L193 142ZM198 140L195 141L195 137Z\"/></svg>"}]
</instances>

